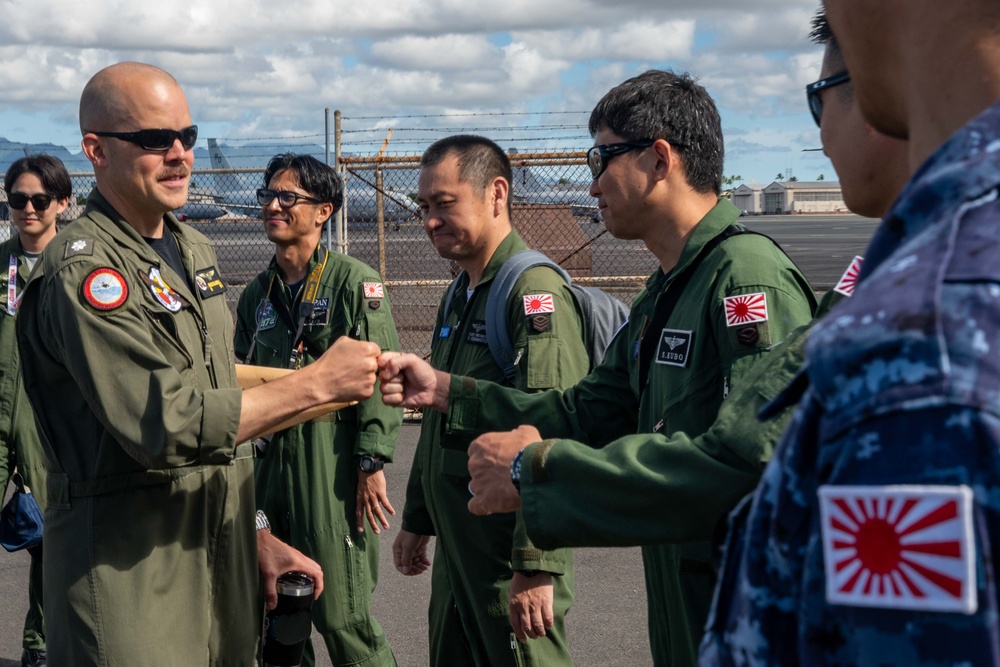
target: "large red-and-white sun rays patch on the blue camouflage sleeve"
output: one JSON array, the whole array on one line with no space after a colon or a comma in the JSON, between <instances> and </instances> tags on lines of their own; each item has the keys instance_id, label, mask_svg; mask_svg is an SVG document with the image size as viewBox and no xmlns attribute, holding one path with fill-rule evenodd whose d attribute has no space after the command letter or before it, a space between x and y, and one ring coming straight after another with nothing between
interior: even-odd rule
<instances>
[{"instance_id":1,"label":"large red-and-white sun rays patch on the blue camouflage sleeve","mask_svg":"<svg viewBox=\"0 0 1000 667\"><path fill-rule=\"evenodd\" d=\"M827 601L975 613L972 498L967 486L821 486Z\"/></svg>"}]
</instances>

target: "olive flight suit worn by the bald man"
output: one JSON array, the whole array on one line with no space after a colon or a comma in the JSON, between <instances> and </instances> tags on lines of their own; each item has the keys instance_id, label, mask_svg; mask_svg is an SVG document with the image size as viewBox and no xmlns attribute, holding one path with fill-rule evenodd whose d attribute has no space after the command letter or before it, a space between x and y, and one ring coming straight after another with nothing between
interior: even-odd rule
<instances>
[{"instance_id":1,"label":"olive flight suit worn by the bald man","mask_svg":"<svg viewBox=\"0 0 1000 667\"><path fill-rule=\"evenodd\" d=\"M95 190L25 288L17 337L48 469L52 665L252 664L253 460L211 242L174 273ZM197 287L195 287L197 285Z\"/></svg>"}]
</instances>

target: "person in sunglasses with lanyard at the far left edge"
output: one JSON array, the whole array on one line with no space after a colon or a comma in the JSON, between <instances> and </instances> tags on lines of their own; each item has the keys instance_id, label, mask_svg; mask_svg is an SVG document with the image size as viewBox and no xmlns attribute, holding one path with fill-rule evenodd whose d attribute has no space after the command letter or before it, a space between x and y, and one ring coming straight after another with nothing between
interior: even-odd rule
<instances>
[{"instance_id":1,"label":"person in sunglasses with lanyard at the far left edge","mask_svg":"<svg viewBox=\"0 0 1000 667\"><path fill-rule=\"evenodd\" d=\"M45 462L35 430L35 417L24 394L14 316L31 270L45 246L55 238L56 218L69 206L73 188L66 167L51 155L15 161L4 177L4 191L17 228L0 244L0 496L15 469L45 510ZM42 545L28 549L28 613L24 618L22 667L46 664L42 612Z\"/></svg>"}]
</instances>

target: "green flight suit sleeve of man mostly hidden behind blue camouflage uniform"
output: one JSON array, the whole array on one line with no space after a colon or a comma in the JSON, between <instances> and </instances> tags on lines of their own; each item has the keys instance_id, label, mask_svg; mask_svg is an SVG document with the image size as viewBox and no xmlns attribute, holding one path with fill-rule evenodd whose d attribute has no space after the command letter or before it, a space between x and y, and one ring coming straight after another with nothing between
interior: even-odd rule
<instances>
[{"instance_id":1,"label":"green flight suit sleeve of man mostly hidden behind blue camouflage uniform","mask_svg":"<svg viewBox=\"0 0 1000 667\"><path fill-rule=\"evenodd\" d=\"M702 435L643 433L600 449L554 438L529 445L521 468L528 535L548 545L635 546L706 540L723 530L795 411L760 420L760 409L802 370L809 331L842 298L827 292L815 320L755 362ZM623 487L629 493L593 492Z\"/></svg>"}]
</instances>

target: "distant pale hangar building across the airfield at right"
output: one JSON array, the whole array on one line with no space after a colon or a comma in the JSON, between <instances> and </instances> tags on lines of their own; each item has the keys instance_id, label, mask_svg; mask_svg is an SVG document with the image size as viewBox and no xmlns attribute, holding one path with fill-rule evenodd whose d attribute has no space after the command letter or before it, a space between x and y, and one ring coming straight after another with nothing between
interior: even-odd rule
<instances>
[{"instance_id":1,"label":"distant pale hangar building across the airfield at right","mask_svg":"<svg viewBox=\"0 0 1000 667\"><path fill-rule=\"evenodd\" d=\"M781 213L850 213L840 181L774 181L766 188L740 185L729 196L751 215Z\"/></svg>"}]
</instances>

